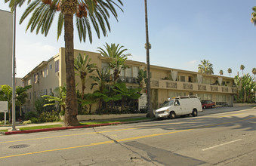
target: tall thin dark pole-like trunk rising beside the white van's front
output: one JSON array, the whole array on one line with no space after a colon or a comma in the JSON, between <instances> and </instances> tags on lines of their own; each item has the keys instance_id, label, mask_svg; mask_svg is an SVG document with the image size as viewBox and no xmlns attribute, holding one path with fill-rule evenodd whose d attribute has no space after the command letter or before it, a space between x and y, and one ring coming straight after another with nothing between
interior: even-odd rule
<instances>
[{"instance_id":1,"label":"tall thin dark pole-like trunk rising beside the white van's front","mask_svg":"<svg viewBox=\"0 0 256 166\"><path fill-rule=\"evenodd\" d=\"M150 89L150 42L149 42L149 29L147 23L147 0L145 2L145 26L146 26L146 45L147 50L147 116L153 118L153 109L151 104L151 89Z\"/></svg>"}]
</instances>

